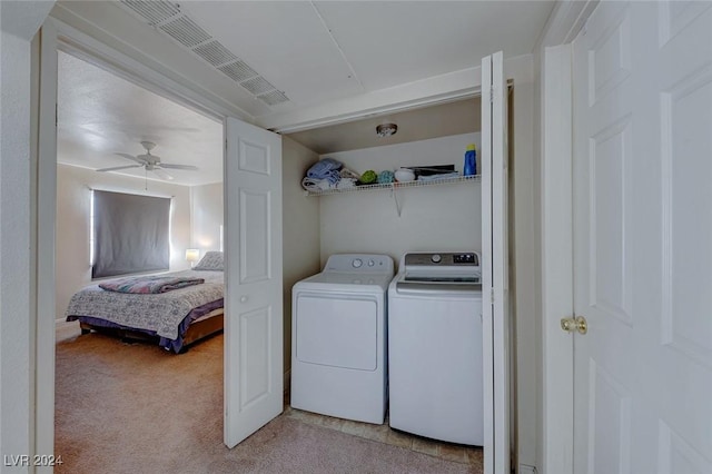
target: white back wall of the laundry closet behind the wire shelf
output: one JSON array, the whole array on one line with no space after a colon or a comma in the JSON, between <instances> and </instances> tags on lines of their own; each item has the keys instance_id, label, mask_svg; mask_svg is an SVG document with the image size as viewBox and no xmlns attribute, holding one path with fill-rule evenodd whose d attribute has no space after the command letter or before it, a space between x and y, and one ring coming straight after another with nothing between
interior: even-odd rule
<instances>
[{"instance_id":1,"label":"white back wall of the laundry closet behind the wire shelf","mask_svg":"<svg viewBox=\"0 0 712 474\"><path fill-rule=\"evenodd\" d=\"M464 134L322 156L359 174L400 166L455 165L462 172L465 148L479 134ZM322 265L332 254L387 254L399 261L406 251L481 250L481 186L459 182L400 189L402 214L388 190L323 196Z\"/></svg>"}]
</instances>

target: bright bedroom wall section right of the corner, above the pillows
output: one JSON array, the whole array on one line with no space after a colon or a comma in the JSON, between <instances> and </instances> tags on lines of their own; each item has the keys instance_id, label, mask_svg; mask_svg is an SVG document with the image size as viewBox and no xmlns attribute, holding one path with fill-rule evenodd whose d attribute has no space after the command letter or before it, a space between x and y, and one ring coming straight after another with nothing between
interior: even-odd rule
<instances>
[{"instance_id":1,"label":"bright bedroom wall section right of the corner, above the pillows","mask_svg":"<svg viewBox=\"0 0 712 474\"><path fill-rule=\"evenodd\" d=\"M190 187L190 247L200 250L220 250L222 226L222 182Z\"/></svg>"}]
</instances>

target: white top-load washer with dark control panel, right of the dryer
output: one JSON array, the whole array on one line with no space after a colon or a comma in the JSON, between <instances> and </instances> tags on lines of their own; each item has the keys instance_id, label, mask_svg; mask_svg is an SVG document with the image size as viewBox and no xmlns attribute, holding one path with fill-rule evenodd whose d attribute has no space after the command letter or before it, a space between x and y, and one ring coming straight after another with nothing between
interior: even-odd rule
<instances>
[{"instance_id":1,"label":"white top-load washer with dark control panel, right of the dryer","mask_svg":"<svg viewBox=\"0 0 712 474\"><path fill-rule=\"evenodd\" d=\"M388 288L390 427L484 445L477 253L411 253Z\"/></svg>"}]
</instances>

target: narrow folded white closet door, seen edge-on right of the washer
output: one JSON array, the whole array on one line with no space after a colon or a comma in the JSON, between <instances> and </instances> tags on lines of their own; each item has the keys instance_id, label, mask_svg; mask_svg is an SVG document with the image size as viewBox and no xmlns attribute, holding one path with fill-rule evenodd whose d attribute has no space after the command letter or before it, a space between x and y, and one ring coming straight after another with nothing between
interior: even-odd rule
<instances>
[{"instance_id":1,"label":"narrow folded white closet door, seen edge-on right of the washer","mask_svg":"<svg viewBox=\"0 0 712 474\"><path fill-rule=\"evenodd\" d=\"M502 51L482 59L484 472L510 472L507 89Z\"/></svg>"}]
</instances>

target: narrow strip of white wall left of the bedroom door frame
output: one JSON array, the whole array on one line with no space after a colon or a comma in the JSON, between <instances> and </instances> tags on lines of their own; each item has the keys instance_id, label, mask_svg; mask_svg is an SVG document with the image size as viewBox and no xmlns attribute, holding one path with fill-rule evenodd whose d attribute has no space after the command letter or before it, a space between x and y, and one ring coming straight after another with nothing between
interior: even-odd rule
<instances>
[{"instance_id":1,"label":"narrow strip of white wall left of the bedroom door frame","mask_svg":"<svg viewBox=\"0 0 712 474\"><path fill-rule=\"evenodd\" d=\"M32 268L30 40L52 2L0 2L0 446L33 454L36 288ZM3 470L4 471L4 470ZM27 470L26 470L27 471Z\"/></svg>"}]
</instances>

